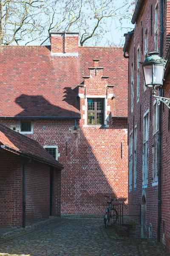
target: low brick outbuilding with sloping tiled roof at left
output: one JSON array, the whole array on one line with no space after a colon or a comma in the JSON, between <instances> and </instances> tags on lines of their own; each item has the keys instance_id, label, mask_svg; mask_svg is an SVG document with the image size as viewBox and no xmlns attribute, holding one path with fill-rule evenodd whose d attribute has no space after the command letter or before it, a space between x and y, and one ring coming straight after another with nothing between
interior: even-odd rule
<instances>
[{"instance_id":1,"label":"low brick outbuilding with sloping tiled roof at left","mask_svg":"<svg viewBox=\"0 0 170 256\"><path fill-rule=\"evenodd\" d=\"M0 125L0 163L0 225L25 227L57 214L63 166L39 143Z\"/></svg>"}]
</instances>

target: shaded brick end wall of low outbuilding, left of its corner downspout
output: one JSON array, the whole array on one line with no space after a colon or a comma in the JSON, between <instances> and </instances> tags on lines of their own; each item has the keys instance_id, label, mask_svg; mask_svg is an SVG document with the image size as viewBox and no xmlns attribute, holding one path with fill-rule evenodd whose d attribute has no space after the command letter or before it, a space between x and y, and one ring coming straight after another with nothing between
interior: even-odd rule
<instances>
[{"instance_id":1,"label":"shaded brick end wall of low outbuilding, left of its corner downspout","mask_svg":"<svg viewBox=\"0 0 170 256\"><path fill-rule=\"evenodd\" d=\"M22 162L0 150L0 225L22 226Z\"/></svg>"}]
</instances>

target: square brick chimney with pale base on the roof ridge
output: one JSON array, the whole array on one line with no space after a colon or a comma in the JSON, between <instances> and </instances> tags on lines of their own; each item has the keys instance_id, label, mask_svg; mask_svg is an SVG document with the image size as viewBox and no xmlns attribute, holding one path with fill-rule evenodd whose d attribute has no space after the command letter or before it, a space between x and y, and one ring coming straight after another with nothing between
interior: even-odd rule
<instances>
[{"instance_id":1,"label":"square brick chimney with pale base on the roof ridge","mask_svg":"<svg viewBox=\"0 0 170 256\"><path fill-rule=\"evenodd\" d=\"M51 55L78 56L77 32L51 32Z\"/></svg>"}]
</instances>

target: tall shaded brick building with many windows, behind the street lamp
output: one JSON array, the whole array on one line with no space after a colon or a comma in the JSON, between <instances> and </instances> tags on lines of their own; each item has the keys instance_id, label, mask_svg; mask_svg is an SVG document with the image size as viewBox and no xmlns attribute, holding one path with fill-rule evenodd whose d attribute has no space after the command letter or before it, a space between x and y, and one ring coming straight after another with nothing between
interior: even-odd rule
<instances>
[{"instance_id":1,"label":"tall shaded brick building with many windows, behind the street lamp","mask_svg":"<svg viewBox=\"0 0 170 256\"><path fill-rule=\"evenodd\" d=\"M144 85L142 65L139 64L139 61L144 61L149 52L160 52L160 56L167 59L162 93L164 97L169 98L170 1L136 1L132 23L135 23L135 28L127 33L123 49L125 58L129 60L129 213L133 215L138 213L140 203L142 205L142 237L157 237L159 240L160 236L160 240L170 249L170 182L168 178L170 112L165 105L162 106L162 113L159 112L160 109L152 97L152 91ZM159 122L159 116L161 116L161 122ZM159 150L159 127L162 130L161 150ZM159 158L159 152L161 152L161 158ZM158 190L161 192L160 204ZM160 222L158 205L161 205ZM133 219L136 220L135 217Z\"/></svg>"}]
</instances>

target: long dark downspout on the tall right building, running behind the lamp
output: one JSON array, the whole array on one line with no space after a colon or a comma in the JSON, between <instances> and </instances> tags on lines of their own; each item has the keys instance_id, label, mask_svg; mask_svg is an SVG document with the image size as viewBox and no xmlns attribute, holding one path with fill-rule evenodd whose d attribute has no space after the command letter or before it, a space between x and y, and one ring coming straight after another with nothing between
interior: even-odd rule
<instances>
[{"instance_id":1,"label":"long dark downspout on the tall right building, running behind the lamp","mask_svg":"<svg viewBox=\"0 0 170 256\"><path fill-rule=\"evenodd\" d=\"M160 0L160 57L163 55L163 0ZM159 96L162 96L162 89L159 90ZM157 241L161 240L161 141L162 141L162 103L159 105L159 151L158 151L158 230Z\"/></svg>"}]
</instances>

